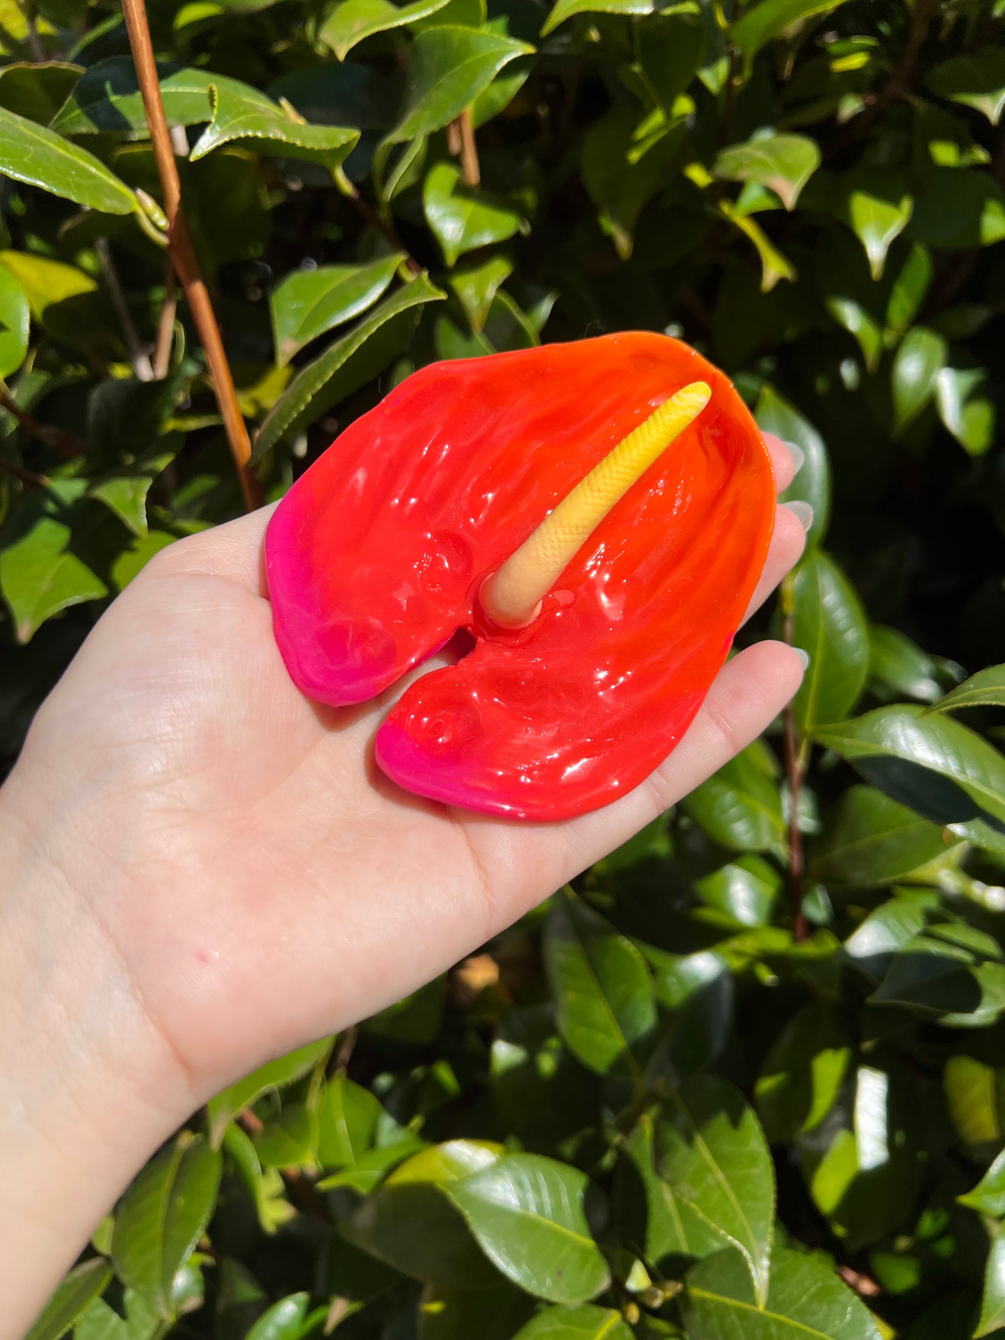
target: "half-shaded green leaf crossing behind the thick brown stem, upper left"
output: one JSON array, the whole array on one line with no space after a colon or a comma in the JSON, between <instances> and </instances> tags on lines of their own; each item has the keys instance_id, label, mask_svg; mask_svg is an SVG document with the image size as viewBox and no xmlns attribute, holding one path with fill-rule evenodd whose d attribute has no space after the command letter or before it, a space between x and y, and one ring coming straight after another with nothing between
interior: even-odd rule
<instances>
[{"instance_id":1,"label":"half-shaded green leaf crossing behind the thick brown stem, upper left","mask_svg":"<svg viewBox=\"0 0 1005 1340\"><path fill-rule=\"evenodd\" d=\"M264 92L239 79L208 70L180 70L158 64L161 99L169 126L197 126L210 121L209 90L216 86L245 106L273 113L276 105ZM114 134L146 139L150 134L131 56L109 56L83 72L72 94L52 121L60 135Z\"/></svg>"}]
</instances>

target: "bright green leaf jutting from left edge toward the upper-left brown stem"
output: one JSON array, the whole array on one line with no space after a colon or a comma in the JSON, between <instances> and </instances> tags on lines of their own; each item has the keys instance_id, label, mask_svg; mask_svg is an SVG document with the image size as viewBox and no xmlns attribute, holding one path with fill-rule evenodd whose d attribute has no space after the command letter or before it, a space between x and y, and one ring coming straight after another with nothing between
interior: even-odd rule
<instances>
[{"instance_id":1,"label":"bright green leaf jutting from left edge toward the upper-left brown stem","mask_svg":"<svg viewBox=\"0 0 1005 1340\"><path fill-rule=\"evenodd\" d=\"M0 174L105 214L143 212L135 193L99 158L4 107L0 107Z\"/></svg>"}]
</instances>

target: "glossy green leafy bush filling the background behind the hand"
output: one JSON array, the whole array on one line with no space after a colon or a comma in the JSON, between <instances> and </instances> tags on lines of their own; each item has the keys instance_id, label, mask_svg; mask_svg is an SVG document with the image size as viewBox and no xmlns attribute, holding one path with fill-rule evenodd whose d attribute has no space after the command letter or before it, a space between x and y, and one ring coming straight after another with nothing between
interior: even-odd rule
<instances>
[{"instance_id":1,"label":"glossy green leafy bush filling the background behind the hand","mask_svg":"<svg viewBox=\"0 0 1005 1340\"><path fill-rule=\"evenodd\" d=\"M681 334L805 452L808 553L745 636L812 659L575 891L194 1118L35 1340L1005 1321L1002 11L157 0L265 493L436 358ZM118 11L0 34L9 762L105 603L241 500Z\"/></svg>"}]
</instances>

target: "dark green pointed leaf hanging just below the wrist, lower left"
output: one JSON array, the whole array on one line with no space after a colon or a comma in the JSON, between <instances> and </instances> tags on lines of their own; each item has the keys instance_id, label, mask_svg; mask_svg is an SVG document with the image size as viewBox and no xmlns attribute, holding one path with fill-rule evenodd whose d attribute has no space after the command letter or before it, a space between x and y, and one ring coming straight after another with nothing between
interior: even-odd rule
<instances>
[{"instance_id":1,"label":"dark green pointed leaf hanging just below the wrist, lower left","mask_svg":"<svg viewBox=\"0 0 1005 1340\"><path fill-rule=\"evenodd\" d=\"M222 1160L201 1136L182 1134L137 1177L115 1213L115 1273L159 1317L176 1316L172 1286L216 1205Z\"/></svg>"}]
</instances>

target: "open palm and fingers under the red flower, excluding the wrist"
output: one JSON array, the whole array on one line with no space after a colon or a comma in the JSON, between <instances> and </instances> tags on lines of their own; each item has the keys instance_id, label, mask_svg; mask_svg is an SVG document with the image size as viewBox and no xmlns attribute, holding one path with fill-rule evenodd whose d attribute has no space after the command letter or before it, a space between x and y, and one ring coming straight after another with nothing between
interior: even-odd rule
<instances>
[{"instance_id":1,"label":"open palm and fingers under the red flower, excluding the wrist","mask_svg":"<svg viewBox=\"0 0 1005 1340\"><path fill-rule=\"evenodd\" d=\"M792 458L769 441L781 486ZM205 1097L401 998L686 795L776 716L800 663L760 643L721 671L667 762L580 819L500 821L375 766L383 698L293 687L261 575L268 511L163 551L43 708L21 766L79 843L90 913ZM760 603L803 525L780 508ZM83 878L87 875L88 878Z\"/></svg>"}]
</instances>

